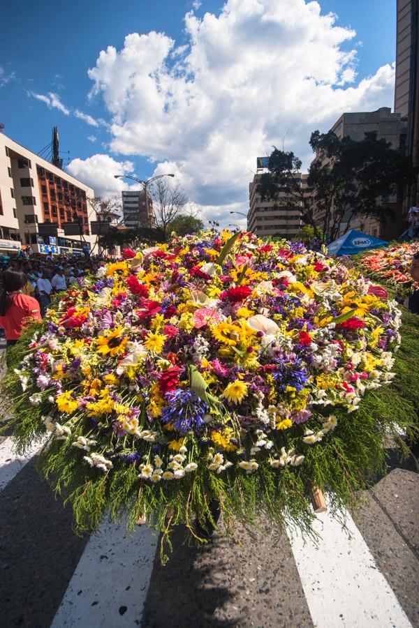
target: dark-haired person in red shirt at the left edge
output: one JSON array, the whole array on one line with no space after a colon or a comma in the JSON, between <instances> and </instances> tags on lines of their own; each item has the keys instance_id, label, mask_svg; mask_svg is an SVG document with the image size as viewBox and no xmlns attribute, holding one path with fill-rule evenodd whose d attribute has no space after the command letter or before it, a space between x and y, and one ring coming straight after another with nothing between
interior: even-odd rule
<instances>
[{"instance_id":1,"label":"dark-haired person in red shirt at the left edge","mask_svg":"<svg viewBox=\"0 0 419 628\"><path fill-rule=\"evenodd\" d=\"M26 322L42 320L38 301L24 294L27 281L22 271L8 269L0 275L0 327L7 347L17 343Z\"/></svg>"}]
</instances>

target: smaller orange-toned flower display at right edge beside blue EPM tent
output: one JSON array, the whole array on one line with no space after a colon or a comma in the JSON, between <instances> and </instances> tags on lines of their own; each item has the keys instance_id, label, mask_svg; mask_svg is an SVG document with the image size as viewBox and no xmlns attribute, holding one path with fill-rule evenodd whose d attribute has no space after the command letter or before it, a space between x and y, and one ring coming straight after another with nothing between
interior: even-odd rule
<instances>
[{"instance_id":1,"label":"smaller orange-toned flower display at right edge beside blue EPM tent","mask_svg":"<svg viewBox=\"0 0 419 628\"><path fill-rule=\"evenodd\" d=\"M419 283L411 278L409 267L413 255L418 251L419 242L405 242L362 255L360 262L365 270L376 276L379 281L403 287L407 292L414 292L419 290Z\"/></svg>"}]
</instances>

